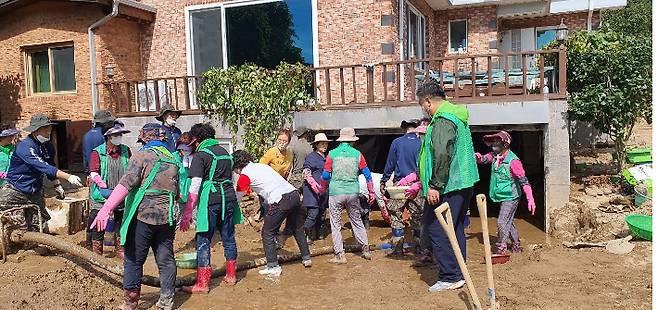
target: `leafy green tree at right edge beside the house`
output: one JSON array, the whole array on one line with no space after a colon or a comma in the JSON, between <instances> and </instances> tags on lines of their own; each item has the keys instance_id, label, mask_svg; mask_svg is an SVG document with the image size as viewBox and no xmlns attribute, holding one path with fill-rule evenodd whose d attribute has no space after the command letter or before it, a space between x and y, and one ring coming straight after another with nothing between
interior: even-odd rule
<instances>
[{"instance_id":1,"label":"leafy green tree at right edge beside the house","mask_svg":"<svg viewBox=\"0 0 658 310\"><path fill-rule=\"evenodd\" d=\"M570 115L610 135L621 170L635 123L651 122L651 37L580 31L566 47Z\"/></svg>"}]
</instances>

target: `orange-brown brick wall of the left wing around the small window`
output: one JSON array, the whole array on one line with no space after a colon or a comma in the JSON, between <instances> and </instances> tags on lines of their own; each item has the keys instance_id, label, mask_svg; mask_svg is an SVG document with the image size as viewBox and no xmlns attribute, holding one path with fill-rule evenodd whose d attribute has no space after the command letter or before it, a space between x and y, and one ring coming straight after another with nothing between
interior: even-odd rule
<instances>
[{"instance_id":1,"label":"orange-brown brick wall of the left wing around the small window","mask_svg":"<svg viewBox=\"0 0 658 310\"><path fill-rule=\"evenodd\" d=\"M0 18L0 121L22 127L36 113L61 120L91 118L87 28L104 15L96 5L39 2ZM138 38L137 24L121 18L99 30L99 78L103 77L102 66L108 63L117 64L118 77L141 77ZM72 43L74 48L75 93L28 96L23 48L64 42Z\"/></svg>"}]
</instances>

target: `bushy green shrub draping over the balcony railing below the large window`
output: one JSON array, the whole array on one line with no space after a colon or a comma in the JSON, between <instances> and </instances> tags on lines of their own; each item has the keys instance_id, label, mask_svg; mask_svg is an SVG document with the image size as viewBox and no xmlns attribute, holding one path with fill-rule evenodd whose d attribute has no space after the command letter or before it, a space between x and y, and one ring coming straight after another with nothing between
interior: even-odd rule
<instances>
[{"instance_id":1,"label":"bushy green shrub draping over the balcony railing below the large window","mask_svg":"<svg viewBox=\"0 0 658 310\"><path fill-rule=\"evenodd\" d=\"M211 69L203 74L200 107L229 127L242 129L245 149L255 158L311 99L312 74L303 64L281 63L274 70L253 64Z\"/></svg>"}]
</instances>

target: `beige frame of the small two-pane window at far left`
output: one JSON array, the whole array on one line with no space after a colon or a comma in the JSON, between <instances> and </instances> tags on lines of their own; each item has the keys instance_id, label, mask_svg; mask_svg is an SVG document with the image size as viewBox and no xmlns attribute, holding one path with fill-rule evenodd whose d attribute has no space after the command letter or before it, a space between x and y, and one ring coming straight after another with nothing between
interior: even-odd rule
<instances>
[{"instance_id":1,"label":"beige frame of the small two-pane window at far left","mask_svg":"<svg viewBox=\"0 0 658 310\"><path fill-rule=\"evenodd\" d=\"M73 79L75 80L75 89L74 90L55 90L55 75L54 75L54 66L53 66L53 49L70 47L73 49L73 66L75 66L75 45L73 42L63 42L63 43L53 43L45 45L34 45L34 46L23 46L24 59L25 59L25 85L26 94L28 97L39 97L39 96L52 96L52 95L66 95L66 94L77 94L78 93L78 79L76 75L76 70L73 70ZM47 52L48 53L48 73L49 73L49 82L50 82L50 91L49 92L34 92L34 87L32 85L34 77L32 72L32 54L38 52Z\"/></svg>"}]
</instances>

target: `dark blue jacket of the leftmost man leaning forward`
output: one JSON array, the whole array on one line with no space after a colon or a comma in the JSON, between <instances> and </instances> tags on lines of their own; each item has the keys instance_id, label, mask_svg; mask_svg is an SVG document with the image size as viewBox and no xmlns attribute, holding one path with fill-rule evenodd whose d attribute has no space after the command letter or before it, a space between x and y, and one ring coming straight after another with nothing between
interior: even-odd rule
<instances>
[{"instance_id":1,"label":"dark blue jacket of the leftmost man leaning forward","mask_svg":"<svg viewBox=\"0 0 658 310\"><path fill-rule=\"evenodd\" d=\"M11 156L7 183L31 195L41 192L44 175L50 180L57 176L55 147L50 142L40 143L30 135L18 143Z\"/></svg>"}]
</instances>

